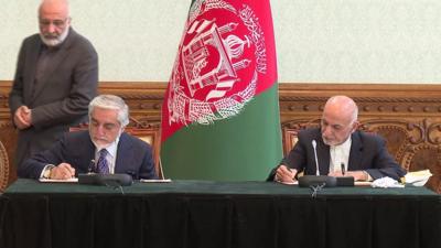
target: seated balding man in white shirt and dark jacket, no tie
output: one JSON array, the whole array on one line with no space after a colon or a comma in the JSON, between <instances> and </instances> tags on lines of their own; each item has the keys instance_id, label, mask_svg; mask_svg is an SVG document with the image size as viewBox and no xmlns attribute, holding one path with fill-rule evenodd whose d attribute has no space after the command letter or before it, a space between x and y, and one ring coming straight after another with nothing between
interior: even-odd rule
<instances>
[{"instance_id":1,"label":"seated balding man in white shirt and dark jacket, no tie","mask_svg":"<svg viewBox=\"0 0 441 248\"><path fill-rule=\"evenodd\" d=\"M353 99L331 97L323 109L321 128L300 131L294 148L271 171L268 181L292 183L299 172L348 175L355 181L402 177L406 171L387 152L384 139L357 130L357 118L358 107Z\"/></svg>"}]
</instances>

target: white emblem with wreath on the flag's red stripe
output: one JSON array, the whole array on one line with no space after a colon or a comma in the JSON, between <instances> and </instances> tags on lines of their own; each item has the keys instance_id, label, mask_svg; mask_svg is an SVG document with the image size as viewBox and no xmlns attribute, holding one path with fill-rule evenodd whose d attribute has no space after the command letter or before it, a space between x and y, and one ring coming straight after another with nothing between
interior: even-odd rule
<instances>
[{"instance_id":1,"label":"white emblem with wreath on the flag's red stripe","mask_svg":"<svg viewBox=\"0 0 441 248\"><path fill-rule=\"evenodd\" d=\"M209 125L236 116L267 67L265 33L251 7L196 0L170 78L169 125Z\"/></svg>"}]
</instances>

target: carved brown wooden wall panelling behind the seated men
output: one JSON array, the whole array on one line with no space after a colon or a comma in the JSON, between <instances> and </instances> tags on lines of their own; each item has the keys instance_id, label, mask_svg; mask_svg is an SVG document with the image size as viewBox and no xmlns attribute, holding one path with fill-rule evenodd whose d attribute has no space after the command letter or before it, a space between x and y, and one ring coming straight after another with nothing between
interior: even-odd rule
<instances>
[{"instance_id":1,"label":"carved brown wooden wall panelling behind the seated men","mask_svg":"<svg viewBox=\"0 0 441 248\"><path fill-rule=\"evenodd\" d=\"M11 82L0 82L0 140L8 154L12 155L17 132L10 125L10 87ZM161 82L99 84L99 93L121 96L129 105L131 125L142 127L160 125L165 88L166 83ZM429 168L437 176L441 175L438 158L441 154L441 85L280 84L281 127L299 129L304 123L318 121L324 103L333 95L347 95L355 99L364 125L362 128L385 136L389 150L392 153L401 152L399 158L402 159L400 162L404 166L411 170L423 169L428 168L426 161L432 160ZM406 157L409 152L412 153L411 158ZM10 174L12 182L15 174ZM432 184L431 187L441 192L439 181Z\"/></svg>"}]
</instances>

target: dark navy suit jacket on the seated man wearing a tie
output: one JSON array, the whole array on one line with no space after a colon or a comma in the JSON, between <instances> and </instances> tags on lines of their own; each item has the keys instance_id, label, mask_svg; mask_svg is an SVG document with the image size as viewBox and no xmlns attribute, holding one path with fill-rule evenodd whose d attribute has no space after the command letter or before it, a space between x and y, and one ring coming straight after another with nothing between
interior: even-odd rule
<instances>
[{"instance_id":1,"label":"dark navy suit jacket on the seated man wearing a tie","mask_svg":"<svg viewBox=\"0 0 441 248\"><path fill-rule=\"evenodd\" d=\"M75 168L75 174L87 173L95 160L95 144L88 131L66 133L51 149L36 153L18 169L20 177L39 179L44 166L62 162ZM133 179L157 179L150 144L126 132L119 138L115 173L130 174Z\"/></svg>"}]
</instances>

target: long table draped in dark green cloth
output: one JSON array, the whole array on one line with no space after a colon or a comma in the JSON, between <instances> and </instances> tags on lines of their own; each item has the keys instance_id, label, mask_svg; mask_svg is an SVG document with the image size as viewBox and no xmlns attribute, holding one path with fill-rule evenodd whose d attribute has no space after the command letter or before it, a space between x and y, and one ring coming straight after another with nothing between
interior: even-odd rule
<instances>
[{"instance_id":1,"label":"long table draped in dark green cloth","mask_svg":"<svg viewBox=\"0 0 441 248\"><path fill-rule=\"evenodd\" d=\"M0 196L0 247L439 248L441 196L424 187L19 179Z\"/></svg>"}]
</instances>

